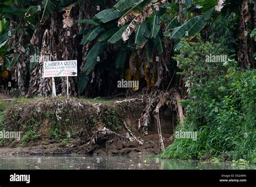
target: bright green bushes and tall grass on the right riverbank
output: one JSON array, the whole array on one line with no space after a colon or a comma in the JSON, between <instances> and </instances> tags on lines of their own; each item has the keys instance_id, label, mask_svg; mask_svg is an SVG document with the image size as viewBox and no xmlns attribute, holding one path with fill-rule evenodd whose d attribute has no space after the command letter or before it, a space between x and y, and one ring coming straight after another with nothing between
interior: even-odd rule
<instances>
[{"instance_id":1,"label":"bright green bushes and tall grass on the right riverbank","mask_svg":"<svg viewBox=\"0 0 256 187\"><path fill-rule=\"evenodd\" d=\"M256 70L240 70L230 59L205 62L206 54L221 51L214 43L190 42L180 50L184 56L175 57L191 85L190 98L181 102L186 118L176 131L197 131L197 140L175 139L163 157L203 159L225 153L231 160L255 158Z\"/></svg>"}]
</instances>

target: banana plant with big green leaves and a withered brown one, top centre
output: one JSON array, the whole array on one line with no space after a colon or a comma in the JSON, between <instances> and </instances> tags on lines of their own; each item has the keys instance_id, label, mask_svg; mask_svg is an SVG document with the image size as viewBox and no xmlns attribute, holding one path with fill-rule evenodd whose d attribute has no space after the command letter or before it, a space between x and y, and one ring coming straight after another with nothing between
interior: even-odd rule
<instances>
[{"instance_id":1,"label":"banana plant with big green leaves and a withered brown one, top centre","mask_svg":"<svg viewBox=\"0 0 256 187\"><path fill-rule=\"evenodd\" d=\"M154 49L159 53L164 52L163 33L161 25L163 25L164 15L167 12L169 3L167 1L157 0L120 0L112 9L105 9L95 15L92 20L80 19L76 23L86 23L91 25L80 34L83 34L81 45L92 42L94 45L85 57L86 63L82 71L87 76L81 76L80 91L86 87L84 82L88 82L89 74L100 63L97 57L102 55L108 45L117 47L116 60L114 61L116 68L123 69L125 59L132 51L144 51L147 56L146 63L153 60ZM126 44L125 47L123 44ZM128 44L128 45L127 45ZM100 50L99 50L100 48ZM137 59L134 59L136 57ZM138 59L142 61L139 55L130 56L130 70L136 69ZM131 63L134 62L134 63ZM146 71L146 70L144 70ZM130 72L130 71L126 71ZM139 78L138 72L133 72L133 77ZM126 76L127 77L127 76ZM150 82L150 81L147 81Z\"/></svg>"}]
</instances>

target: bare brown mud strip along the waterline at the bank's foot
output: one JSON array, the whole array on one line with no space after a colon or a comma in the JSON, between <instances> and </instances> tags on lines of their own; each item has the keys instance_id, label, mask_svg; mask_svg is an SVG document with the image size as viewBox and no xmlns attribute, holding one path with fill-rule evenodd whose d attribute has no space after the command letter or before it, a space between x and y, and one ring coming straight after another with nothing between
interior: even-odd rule
<instances>
[{"instance_id":1,"label":"bare brown mud strip along the waterline at the bank's foot","mask_svg":"<svg viewBox=\"0 0 256 187\"><path fill-rule=\"evenodd\" d=\"M166 134L164 134L166 135ZM139 145L137 141L122 143L113 141L109 145L87 145L87 141L80 138L69 142L66 145L62 142L45 142L44 140L29 143L26 147L0 148L0 154L19 154L19 155L57 155L57 154L90 154L90 155L156 155L161 153L159 147L158 134L147 135L143 138L144 144ZM164 141L165 146L170 145L170 140Z\"/></svg>"}]
</instances>

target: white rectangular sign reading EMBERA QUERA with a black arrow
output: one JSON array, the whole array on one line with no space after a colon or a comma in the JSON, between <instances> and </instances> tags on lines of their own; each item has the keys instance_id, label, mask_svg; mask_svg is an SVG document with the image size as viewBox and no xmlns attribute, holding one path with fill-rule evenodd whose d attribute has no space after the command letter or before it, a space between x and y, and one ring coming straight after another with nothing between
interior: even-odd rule
<instances>
[{"instance_id":1,"label":"white rectangular sign reading EMBERA QUERA with a black arrow","mask_svg":"<svg viewBox=\"0 0 256 187\"><path fill-rule=\"evenodd\" d=\"M77 76L77 60L44 62L44 78Z\"/></svg>"}]
</instances>

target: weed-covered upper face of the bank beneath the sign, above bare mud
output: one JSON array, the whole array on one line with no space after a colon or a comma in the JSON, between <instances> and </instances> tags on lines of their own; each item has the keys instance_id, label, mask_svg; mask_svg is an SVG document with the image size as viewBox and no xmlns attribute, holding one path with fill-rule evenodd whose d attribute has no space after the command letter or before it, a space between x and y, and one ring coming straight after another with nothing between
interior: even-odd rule
<instances>
[{"instance_id":1,"label":"weed-covered upper face of the bank beneath the sign, above bare mud","mask_svg":"<svg viewBox=\"0 0 256 187\"><path fill-rule=\"evenodd\" d=\"M120 132L127 111L133 111L136 104L143 106L141 103L114 104L114 100L103 98L18 97L11 101L11 105L0 103L3 110L1 120L4 122L0 125L0 131L23 132L20 147L37 140L67 144L78 137L88 138L93 131L103 126ZM12 141L6 139L1 144L6 146Z\"/></svg>"}]
</instances>

